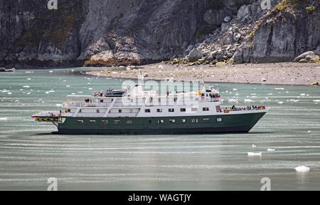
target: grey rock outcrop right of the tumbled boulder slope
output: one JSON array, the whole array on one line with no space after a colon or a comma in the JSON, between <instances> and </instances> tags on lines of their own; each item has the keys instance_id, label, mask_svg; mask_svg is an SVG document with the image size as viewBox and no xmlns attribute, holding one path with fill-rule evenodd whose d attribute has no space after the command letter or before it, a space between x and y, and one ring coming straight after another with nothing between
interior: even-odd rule
<instances>
[{"instance_id":1,"label":"grey rock outcrop right of the tumbled boulder slope","mask_svg":"<svg viewBox=\"0 0 320 205\"><path fill-rule=\"evenodd\" d=\"M264 16L252 33L253 39L243 43L233 61L293 61L301 53L316 50L320 43L320 10L317 7L307 14L308 5L301 1L299 8L276 8Z\"/></svg>"}]
</instances>

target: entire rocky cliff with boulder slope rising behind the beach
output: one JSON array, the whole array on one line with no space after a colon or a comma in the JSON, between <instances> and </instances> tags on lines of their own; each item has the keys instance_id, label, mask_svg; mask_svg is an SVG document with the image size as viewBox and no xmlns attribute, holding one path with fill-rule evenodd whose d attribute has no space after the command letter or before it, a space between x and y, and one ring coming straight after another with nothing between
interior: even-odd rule
<instances>
[{"instance_id":1,"label":"entire rocky cliff with boulder slope rising behind the beach","mask_svg":"<svg viewBox=\"0 0 320 205\"><path fill-rule=\"evenodd\" d=\"M43 0L1 1L0 66L142 64L193 48L208 63L319 51L318 0L267 1L58 0L57 10Z\"/></svg>"}]
</instances>

